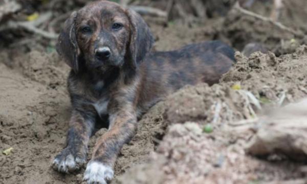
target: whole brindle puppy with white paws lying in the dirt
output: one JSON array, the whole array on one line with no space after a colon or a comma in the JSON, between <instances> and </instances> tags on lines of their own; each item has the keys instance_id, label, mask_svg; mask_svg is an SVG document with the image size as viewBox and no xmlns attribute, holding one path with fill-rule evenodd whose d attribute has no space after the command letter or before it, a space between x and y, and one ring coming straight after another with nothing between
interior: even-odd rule
<instances>
[{"instance_id":1,"label":"whole brindle puppy with white paws lying in the dirt","mask_svg":"<svg viewBox=\"0 0 307 184\"><path fill-rule=\"evenodd\" d=\"M105 122L108 131L97 140L83 179L106 183L148 108L186 84L218 82L234 62L234 51L220 41L149 53L152 44L141 16L116 3L90 3L65 21L57 51L72 68L73 110L67 146L55 157L54 169L68 173L85 164L95 125Z\"/></svg>"}]
</instances>

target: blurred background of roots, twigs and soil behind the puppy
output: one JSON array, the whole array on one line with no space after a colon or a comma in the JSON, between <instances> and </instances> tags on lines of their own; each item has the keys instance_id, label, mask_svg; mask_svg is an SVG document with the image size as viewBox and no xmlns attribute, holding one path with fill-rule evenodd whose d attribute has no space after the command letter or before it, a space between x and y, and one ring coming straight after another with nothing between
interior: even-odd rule
<instances>
[{"instance_id":1,"label":"blurred background of roots, twigs and soil behind the puppy","mask_svg":"<svg viewBox=\"0 0 307 184\"><path fill-rule=\"evenodd\" d=\"M85 0L0 1L0 50L18 53L55 51L56 36L70 13ZM113 0L134 9L146 19L156 36L156 50L171 50L190 42L222 39L235 49L259 42L280 55L305 43L304 0L239 0L240 7L280 21L293 32L270 20L247 15L233 8L234 0ZM299 38L299 39L296 39Z\"/></svg>"}]
</instances>

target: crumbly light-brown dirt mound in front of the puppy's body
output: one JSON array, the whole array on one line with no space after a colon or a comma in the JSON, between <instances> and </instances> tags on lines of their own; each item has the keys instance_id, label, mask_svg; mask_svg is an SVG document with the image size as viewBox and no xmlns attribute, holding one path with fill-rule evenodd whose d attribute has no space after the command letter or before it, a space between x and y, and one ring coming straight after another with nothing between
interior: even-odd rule
<instances>
[{"instance_id":1,"label":"crumbly light-brown dirt mound in front of the puppy's body","mask_svg":"<svg viewBox=\"0 0 307 184\"><path fill-rule=\"evenodd\" d=\"M128 178L134 178L131 183L304 182L303 163L273 153L258 159L247 154L246 147L257 132L251 124L258 120L255 112L307 96L303 72L307 69L307 47L281 57L254 53L246 58L236 53L236 58L237 63L220 84L188 86L167 98L164 117L170 127L163 141L150 164L138 166L143 171L131 169L121 183ZM211 133L205 133L208 124L213 127ZM288 128L285 132L295 130L292 133L296 134L294 125ZM300 133L306 133L305 129ZM153 168L162 168L163 173L156 177L164 178L163 182L137 180Z\"/></svg>"}]
</instances>

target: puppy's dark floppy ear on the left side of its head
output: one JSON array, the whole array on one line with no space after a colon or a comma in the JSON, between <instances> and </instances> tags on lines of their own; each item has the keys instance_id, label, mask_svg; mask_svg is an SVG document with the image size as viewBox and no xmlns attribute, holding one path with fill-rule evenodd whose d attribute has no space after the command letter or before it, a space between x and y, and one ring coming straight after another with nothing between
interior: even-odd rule
<instances>
[{"instance_id":1,"label":"puppy's dark floppy ear on the left side of its head","mask_svg":"<svg viewBox=\"0 0 307 184\"><path fill-rule=\"evenodd\" d=\"M75 19L77 12L74 11L71 16L65 21L64 28L62 29L56 50L60 56L64 57L65 62L73 68L75 73L78 72L78 55L80 53L76 39Z\"/></svg>"}]
</instances>

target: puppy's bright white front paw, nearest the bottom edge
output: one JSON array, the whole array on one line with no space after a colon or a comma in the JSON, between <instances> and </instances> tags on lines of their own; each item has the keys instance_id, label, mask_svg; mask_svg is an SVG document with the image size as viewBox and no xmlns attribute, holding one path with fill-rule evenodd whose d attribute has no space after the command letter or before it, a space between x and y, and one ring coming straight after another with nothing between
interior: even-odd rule
<instances>
[{"instance_id":1,"label":"puppy's bright white front paw, nearest the bottom edge","mask_svg":"<svg viewBox=\"0 0 307 184\"><path fill-rule=\"evenodd\" d=\"M111 167L106 166L100 162L91 160L86 166L83 180L89 184L106 184L106 181L111 180L113 176L114 171Z\"/></svg>"}]
</instances>

